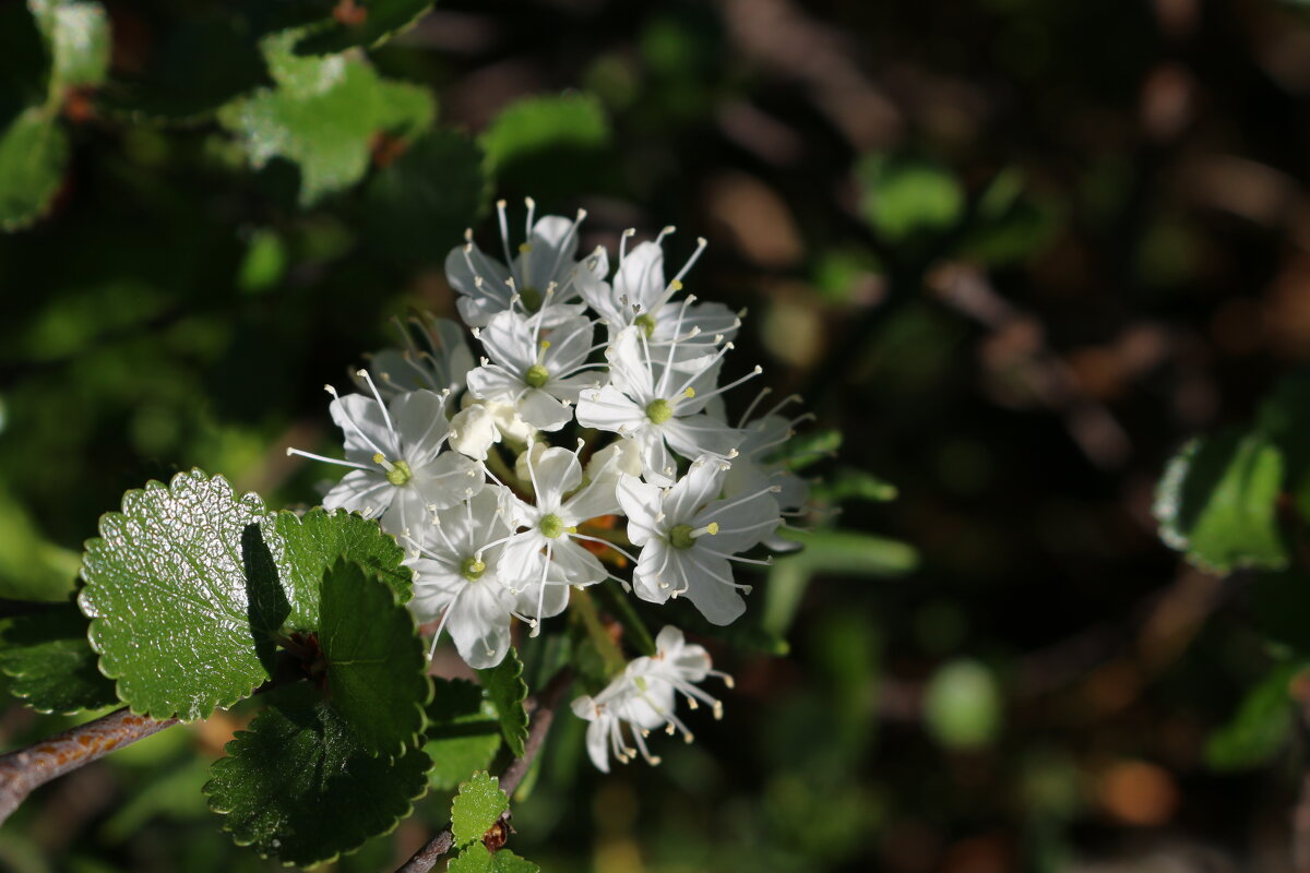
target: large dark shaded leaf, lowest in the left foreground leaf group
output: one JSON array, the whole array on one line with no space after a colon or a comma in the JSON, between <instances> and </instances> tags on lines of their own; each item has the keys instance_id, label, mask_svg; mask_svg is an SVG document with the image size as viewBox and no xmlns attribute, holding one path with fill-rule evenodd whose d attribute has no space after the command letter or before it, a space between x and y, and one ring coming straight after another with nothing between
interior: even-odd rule
<instances>
[{"instance_id":1,"label":"large dark shaded leaf, lowest in the left foreground leaf group","mask_svg":"<svg viewBox=\"0 0 1310 873\"><path fill-rule=\"evenodd\" d=\"M373 757L330 705L299 698L236 734L204 793L238 846L309 866L390 832L427 791L428 760Z\"/></svg>"}]
</instances>

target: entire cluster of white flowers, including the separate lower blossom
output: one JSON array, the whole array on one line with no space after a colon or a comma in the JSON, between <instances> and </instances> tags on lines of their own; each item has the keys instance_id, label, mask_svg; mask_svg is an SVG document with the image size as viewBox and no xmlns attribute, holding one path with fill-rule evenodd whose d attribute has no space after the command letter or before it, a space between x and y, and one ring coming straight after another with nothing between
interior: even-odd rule
<instances>
[{"instance_id":1,"label":"entire cluster of white flowers, including the separate lower blossom","mask_svg":"<svg viewBox=\"0 0 1310 873\"><path fill-rule=\"evenodd\" d=\"M350 469L324 505L397 537L417 616L439 622L434 645L447 631L473 668L504 658L515 619L536 635L590 585L652 603L686 597L709 622L734 622L751 590L734 564L768 563L745 552L779 548L807 491L777 461L799 420L782 415L787 401L757 414L762 391L728 423L726 393L760 368L720 383L740 318L683 293L705 241L667 279L672 228L634 246L625 232L610 275L604 247L579 257L584 213L534 220L528 200L516 246L503 202L498 213L503 260L472 232L445 259L477 355L460 325L414 317L400 325L405 348L355 374L358 393L328 389L345 459L288 452ZM648 729L690 736L677 694L718 709L694 685L715 674L703 648L665 627L656 649L574 704L601 770L607 749L635 754L621 722L654 760Z\"/></svg>"}]
</instances>

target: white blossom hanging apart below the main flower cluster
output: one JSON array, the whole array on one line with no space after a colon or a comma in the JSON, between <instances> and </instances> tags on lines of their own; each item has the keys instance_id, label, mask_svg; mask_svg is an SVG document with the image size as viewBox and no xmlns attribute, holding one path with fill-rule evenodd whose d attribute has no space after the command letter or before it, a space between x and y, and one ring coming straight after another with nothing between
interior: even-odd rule
<instances>
[{"instance_id":1,"label":"white blossom hanging apart below the main flower cluster","mask_svg":"<svg viewBox=\"0 0 1310 873\"><path fill-rule=\"evenodd\" d=\"M655 637L655 654L629 662L595 698L582 696L572 702L574 715L591 722L587 726L591 762L607 774L610 753L620 763L626 764L641 754L647 763L658 764L660 759L651 755L646 738L660 726L671 736L681 732L683 738L692 742L690 729L675 712L676 699L681 694L692 709L706 703L715 719L722 717L722 704L697 687L710 675L732 687L728 674L713 669L703 647L688 645L680 630L664 627Z\"/></svg>"}]
</instances>

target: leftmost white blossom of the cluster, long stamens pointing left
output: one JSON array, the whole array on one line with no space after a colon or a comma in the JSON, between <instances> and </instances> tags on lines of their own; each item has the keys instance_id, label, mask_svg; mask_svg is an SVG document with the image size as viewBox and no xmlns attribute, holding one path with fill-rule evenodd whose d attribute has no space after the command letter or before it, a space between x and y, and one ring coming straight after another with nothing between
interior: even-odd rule
<instances>
[{"instance_id":1,"label":"leftmost white blossom of the cluster, long stamens pointing left","mask_svg":"<svg viewBox=\"0 0 1310 873\"><path fill-rule=\"evenodd\" d=\"M352 467L324 496L325 508L381 518L383 530L406 535L432 509L445 509L482 490L479 463L441 452L448 428L444 397L409 391L386 404L376 387L373 397L339 397L331 386L328 390L334 398L328 407L333 421L346 435L346 459L287 449L287 454Z\"/></svg>"}]
</instances>

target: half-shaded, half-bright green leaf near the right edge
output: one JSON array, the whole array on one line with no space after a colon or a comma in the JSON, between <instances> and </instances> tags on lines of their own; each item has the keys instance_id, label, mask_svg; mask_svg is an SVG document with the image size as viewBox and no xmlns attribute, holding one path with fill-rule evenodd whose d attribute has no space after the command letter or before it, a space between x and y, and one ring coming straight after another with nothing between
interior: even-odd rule
<instances>
[{"instance_id":1,"label":"half-shaded, half-bright green leaf near the right edge","mask_svg":"<svg viewBox=\"0 0 1310 873\"><path fill-rule=\"evenodd\" d=\"M1230 428L1193 440L1169 462L1154 513L1169 546L1208 569L1280 568L1282 455L1259 431Z\"/></svg>"}]
</instances>

